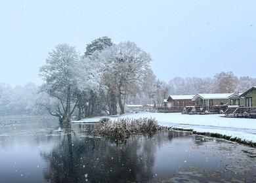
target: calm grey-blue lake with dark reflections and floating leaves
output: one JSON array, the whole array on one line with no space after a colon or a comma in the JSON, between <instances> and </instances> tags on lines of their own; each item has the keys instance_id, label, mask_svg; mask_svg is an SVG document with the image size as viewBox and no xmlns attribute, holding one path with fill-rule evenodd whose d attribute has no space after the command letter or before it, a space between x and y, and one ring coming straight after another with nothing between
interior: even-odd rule
<instances>
[{"instance_id":1,"label":"calm grey-blue lake with dark reflections and floating leaves","mask_svg":"<svg viewBox=\"0 0 256 183\"><path fill-rule=\"evenodd\" d=\"M254 148L184 131L115 141L92 129L0 117L0 182L256 182Z\"/></svg>"}]
</instances>

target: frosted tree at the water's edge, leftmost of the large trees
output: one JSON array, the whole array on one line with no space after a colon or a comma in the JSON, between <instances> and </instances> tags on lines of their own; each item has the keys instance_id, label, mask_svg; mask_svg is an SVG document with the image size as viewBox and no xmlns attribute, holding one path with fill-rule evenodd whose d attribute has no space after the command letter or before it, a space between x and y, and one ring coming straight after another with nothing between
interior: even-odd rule
<instances>
[{"instance_id":1,"label":"frosted tree at the water's edge, leftmost of the large trees","mask_svg":"<svg viewBox=\"0 0 256 183\"><path fill-rule=\"evenodd\" d=\"M41 78L45 81L42 91L48 93L58 101L51 108L41 104L53 116L57 116L60 123L70 122L71 115L77 105L77 78L80 76L81 61L75 48L68 44L58 44L49 52L45 65L40 69Z\"/></svg>"}]
</instances>

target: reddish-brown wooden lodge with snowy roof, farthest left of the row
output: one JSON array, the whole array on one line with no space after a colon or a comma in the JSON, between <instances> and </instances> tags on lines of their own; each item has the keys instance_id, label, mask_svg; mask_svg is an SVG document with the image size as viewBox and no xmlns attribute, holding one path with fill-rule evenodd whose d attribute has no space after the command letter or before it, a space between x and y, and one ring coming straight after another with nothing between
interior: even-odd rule
<instances>
[{"instance_id":1,"label":"reddish-brown wooden lodge with snowy roof, farthest left of the row","mask_svg":"<svg viewBox=\"0 0 256 183\"><path fill-rule=\"evenodd\" d=\"M194 95L169 95L158 108L158 112L182 112L184 107L194 106L193 97Z\"/></svg>"}]
</instances>

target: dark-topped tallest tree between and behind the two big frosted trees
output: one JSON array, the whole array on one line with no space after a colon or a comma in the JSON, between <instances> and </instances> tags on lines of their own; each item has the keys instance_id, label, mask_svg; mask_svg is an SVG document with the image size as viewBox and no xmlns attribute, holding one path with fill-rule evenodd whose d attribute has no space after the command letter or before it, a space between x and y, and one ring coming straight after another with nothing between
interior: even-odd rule
<instances>
[{"instance_id":1,"label":"dark-topped tallest tree between and behind the two big frosted trees","mask_svg":"<svg viewBox=\"0 0 256 183\"><path fill-rule=\"evenodd\" d=\"M87 44L85 55L82 57L84 72L91 73L89 81L89 87L85 90L81 90L79 95L78 116L77 119L85 118L86 116L99 115L101 110L104 110L104 101L102 101L102 90L100 91L100 75L102 73L102 65L100 59L98 59L98 54L112 46L113 43L108 37L100 37L95 39L90 44ZM102 88L102 87L101 87ZM89 90L88 90L89 89ZM104 97L103 97L104 98Z\"/></svg>"}]
</instances>

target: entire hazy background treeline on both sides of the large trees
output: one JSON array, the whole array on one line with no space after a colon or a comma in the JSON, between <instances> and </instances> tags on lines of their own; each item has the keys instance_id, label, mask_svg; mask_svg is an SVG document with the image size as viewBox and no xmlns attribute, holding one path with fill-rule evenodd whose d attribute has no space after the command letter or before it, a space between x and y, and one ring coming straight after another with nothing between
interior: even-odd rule
<instances>
[{"instance_id":1,"label":"entire hazy background treeline on both sides of the large trees","mask_svg":"<svg viewBox=\"0 0 256 183\"><path fill-rule=\"evenodd\" d=\"M154 79L155 87L158 80ZM244 92L251 86L256 86L256 78L248 76L237 77L232 73L218 73L214 78L173 78L169 83L161 82L159 100L166 99L170 94L193 93L228 93ZM40 92L40 86L33 83L25 86L11 87L0 84L0 115L38 115L48 114L48 111L37 105L39 102L51 101L51 97ZM152 94L152 103L157 103L158 93ZM137 95L127 99L127 103L149 103L148 95L140 90ZM95 114L96 115L96 114Z\"/></svg>"}]
</instances>

